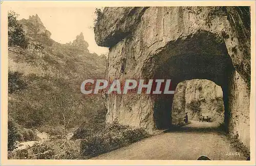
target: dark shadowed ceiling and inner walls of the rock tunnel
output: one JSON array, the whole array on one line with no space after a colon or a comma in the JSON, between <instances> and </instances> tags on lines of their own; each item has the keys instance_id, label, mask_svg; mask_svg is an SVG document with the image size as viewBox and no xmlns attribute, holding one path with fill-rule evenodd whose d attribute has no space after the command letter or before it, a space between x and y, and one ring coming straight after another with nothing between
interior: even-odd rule
<instances>
[{"instance_id":1,"label":"dark shadowed ceiling and inner walls of the rock tunnel","mask_svg":"<svg viewBox=\"0 0 256 166\"><path fill-rule=\"evenodd\" d=\"M186 38L169 42L157 55L148 60L146 68L154 68L152 75L145 78L171 79L172 89L185 80L206 79L219 85L223 91L224 124L229 123L229 84L234 67L223 39L216 34L200 31ZM152 64L155 66L152 67ZM150 69L148 69L150 70ZM147 70L147 71L148 71ZM159 94L154 97L154 122L156 129L171 126L173 94ZM178 99L184 102L184 99Z\"/></svg>"}]
</instances>

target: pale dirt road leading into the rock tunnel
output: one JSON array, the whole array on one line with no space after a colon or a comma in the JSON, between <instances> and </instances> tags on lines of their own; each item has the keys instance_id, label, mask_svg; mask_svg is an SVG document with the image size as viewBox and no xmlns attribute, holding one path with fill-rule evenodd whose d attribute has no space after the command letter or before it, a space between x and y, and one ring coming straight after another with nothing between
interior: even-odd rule
<instances>
[{"instance_id":1,"label":"pale dirt road leading into the rock tunnel","mask_svg":"<svg viewBox=\"0 0 256 166\"><path fill-rule=\"evenodd\" d=\"M227 155L236 152L227 138L215 131L203 131L217 127L218 124L191 121L182 131L171 131L144 139L130 146L92 159L166 159L197 160L204 155L211 160L245 160L246 157Z\"/></svg>"}]
</instances>

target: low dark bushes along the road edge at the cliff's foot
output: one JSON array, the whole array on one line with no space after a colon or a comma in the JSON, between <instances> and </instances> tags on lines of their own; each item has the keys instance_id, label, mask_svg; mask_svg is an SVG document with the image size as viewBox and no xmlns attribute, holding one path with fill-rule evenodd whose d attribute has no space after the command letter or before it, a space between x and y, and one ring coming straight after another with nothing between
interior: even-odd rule
<instances>
[{"instance_id":1,"label":"low dark bushes along the road edge at the cliff's foot","mask_svg":"<svg viewBox=\"0 0 256 166\"><path fill-rule=\"evenodd\" d=\"M96 134L93 134L96 133ZM131 128L117 122L106 124L105 128L98 131L79 128L74 133L73 139L83 139L81 154L94 157L102 153L127 146L150 136L143 128Z\"/></svg>"}]
</instances>

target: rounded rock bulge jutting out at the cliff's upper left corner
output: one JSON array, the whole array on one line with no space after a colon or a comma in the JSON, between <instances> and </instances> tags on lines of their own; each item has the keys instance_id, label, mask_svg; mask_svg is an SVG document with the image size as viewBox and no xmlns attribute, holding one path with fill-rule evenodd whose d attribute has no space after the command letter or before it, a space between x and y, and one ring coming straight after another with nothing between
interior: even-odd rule
<instances>
[{"instance_id":1,"label":"rounded rock bulge jutting out at the cliff's upper left corner","mask_svg":"<svg viewBox=\"0 0 256 166\"><path fill-rule=\"evenodd\" d=\"M113 46L136 28L147 7L104 8L94 27L95 40L100 46ZM103 31L103 32L102 32Z\"/></svg>"}]
</instances>

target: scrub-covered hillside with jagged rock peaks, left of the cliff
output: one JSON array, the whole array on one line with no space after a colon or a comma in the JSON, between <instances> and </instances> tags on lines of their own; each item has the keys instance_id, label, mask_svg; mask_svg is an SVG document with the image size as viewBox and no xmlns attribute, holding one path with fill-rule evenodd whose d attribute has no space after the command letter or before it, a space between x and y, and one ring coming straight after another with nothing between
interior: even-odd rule
<instances>
[{"instance_id":1,"label":"scrub-covered hillside with jagged rock peaks, left of the cliff","mask_svg":"<svg viewBox=\"0 0 256 166\"><path fill-rule=\"evenodd\" d=\"M101 96L83 96L80 85L104 77L105 56L89 53L82 33L70 44L55 42L38 15L19 23L29 44L9 48L9 118L26 128L62 126L73 112L70 128L104 121Z\"/></svg>"}]
</instances>

